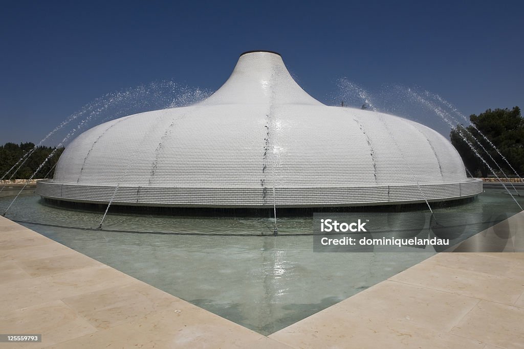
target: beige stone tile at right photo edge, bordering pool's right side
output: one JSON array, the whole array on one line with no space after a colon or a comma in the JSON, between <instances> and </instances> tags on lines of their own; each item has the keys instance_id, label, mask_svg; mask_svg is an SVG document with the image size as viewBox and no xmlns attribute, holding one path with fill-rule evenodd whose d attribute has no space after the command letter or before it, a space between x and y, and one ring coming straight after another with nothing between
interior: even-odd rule
<instances>
[{"instance_id":1,"label":"beige stone tile at right photo edge, bordering pool's right side","mask_svg":"<svg viewBox=\"0 0 524 349\"><path fill-rule=\"evenodd\" d=\"M513 276L454 269L424 261L390 280L513 305L524 291L524 280Z\"/></svg>"}]
</instances>

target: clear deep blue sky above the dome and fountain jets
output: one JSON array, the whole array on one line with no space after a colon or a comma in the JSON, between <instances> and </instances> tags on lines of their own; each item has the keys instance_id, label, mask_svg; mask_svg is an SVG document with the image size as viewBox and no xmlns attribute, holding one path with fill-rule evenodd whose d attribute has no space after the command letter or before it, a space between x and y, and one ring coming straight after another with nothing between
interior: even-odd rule
<instances>
[{"instance_id":1,"label":"clear deep blue sky above the dome and fountain jets","mask_svg":"<svg viewBox=\"0 0 524 349\"><path fill-rule=\"evenodd\" d=\"M347 76L422 86L466 115L522 108L523 15L522 1L4 2L0 143L37 143L94 98L151 81L217 89L256 49L280 52L325 103Z\"/></svg>"}]
</instances>

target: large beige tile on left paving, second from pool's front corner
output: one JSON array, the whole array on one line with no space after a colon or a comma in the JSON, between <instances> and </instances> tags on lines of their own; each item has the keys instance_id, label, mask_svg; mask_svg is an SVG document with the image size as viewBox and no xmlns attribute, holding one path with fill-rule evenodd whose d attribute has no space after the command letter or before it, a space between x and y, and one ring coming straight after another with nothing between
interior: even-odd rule
<instances>
[{"instance_id":1,"label":"large beige tile on left paving, second from pool's front corner","mask_svg":"<svg viewBox=\"0 0 524 349\"><path fill-rule=\"evenodd\" d=\"M166 309L185 309L189 304L140 282L62 300L98 329L115 327Z\"/></svg>"}]
</instances>

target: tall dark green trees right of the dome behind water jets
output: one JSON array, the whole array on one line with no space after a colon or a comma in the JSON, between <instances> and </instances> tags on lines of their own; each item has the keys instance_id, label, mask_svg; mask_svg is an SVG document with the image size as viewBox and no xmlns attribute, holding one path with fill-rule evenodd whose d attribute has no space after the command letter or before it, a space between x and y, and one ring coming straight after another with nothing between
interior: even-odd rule
<instances>
[{"instance_id":1,"label":"tall dark green trees right of the dome behind water jets","mask_svg":"<svg viewBox=\"0 0 524 349\"><path fill-rule=\"evenodd\" d=\"M471 115L470 121L472 125L457 125L450 134L451 143L462 156L466 168L475 176L487 177L492 174L488 166L471 149L473 147L497 175L502 175L498 170L500 166L508 177L515 176L503 156L520 176L524 175L524 119L520 114L520 108L488 109L478 116ZM502 156L483 135L495 145Z\"/></svg>"}]
</instances>

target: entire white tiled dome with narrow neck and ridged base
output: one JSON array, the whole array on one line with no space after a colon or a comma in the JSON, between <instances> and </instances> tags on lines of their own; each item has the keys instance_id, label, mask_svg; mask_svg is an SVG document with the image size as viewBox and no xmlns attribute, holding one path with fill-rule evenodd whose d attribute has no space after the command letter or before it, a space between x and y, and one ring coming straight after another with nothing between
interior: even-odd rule
<instances>
[{"instance_id":1,"label":"entire white tiled dome with narrow neck and ridged base","mask_svg":"<svg viewBox=\"0 0 524 349\"><path fill-rule=\"evenodd\" d=\"M115 188L116 191L115 191ZM472 197L441 134L308 95L279 54L241 55L201 103L102 123L65 149L44 198L126 206L344 207Z\"/></svg>"}]
</instances>

